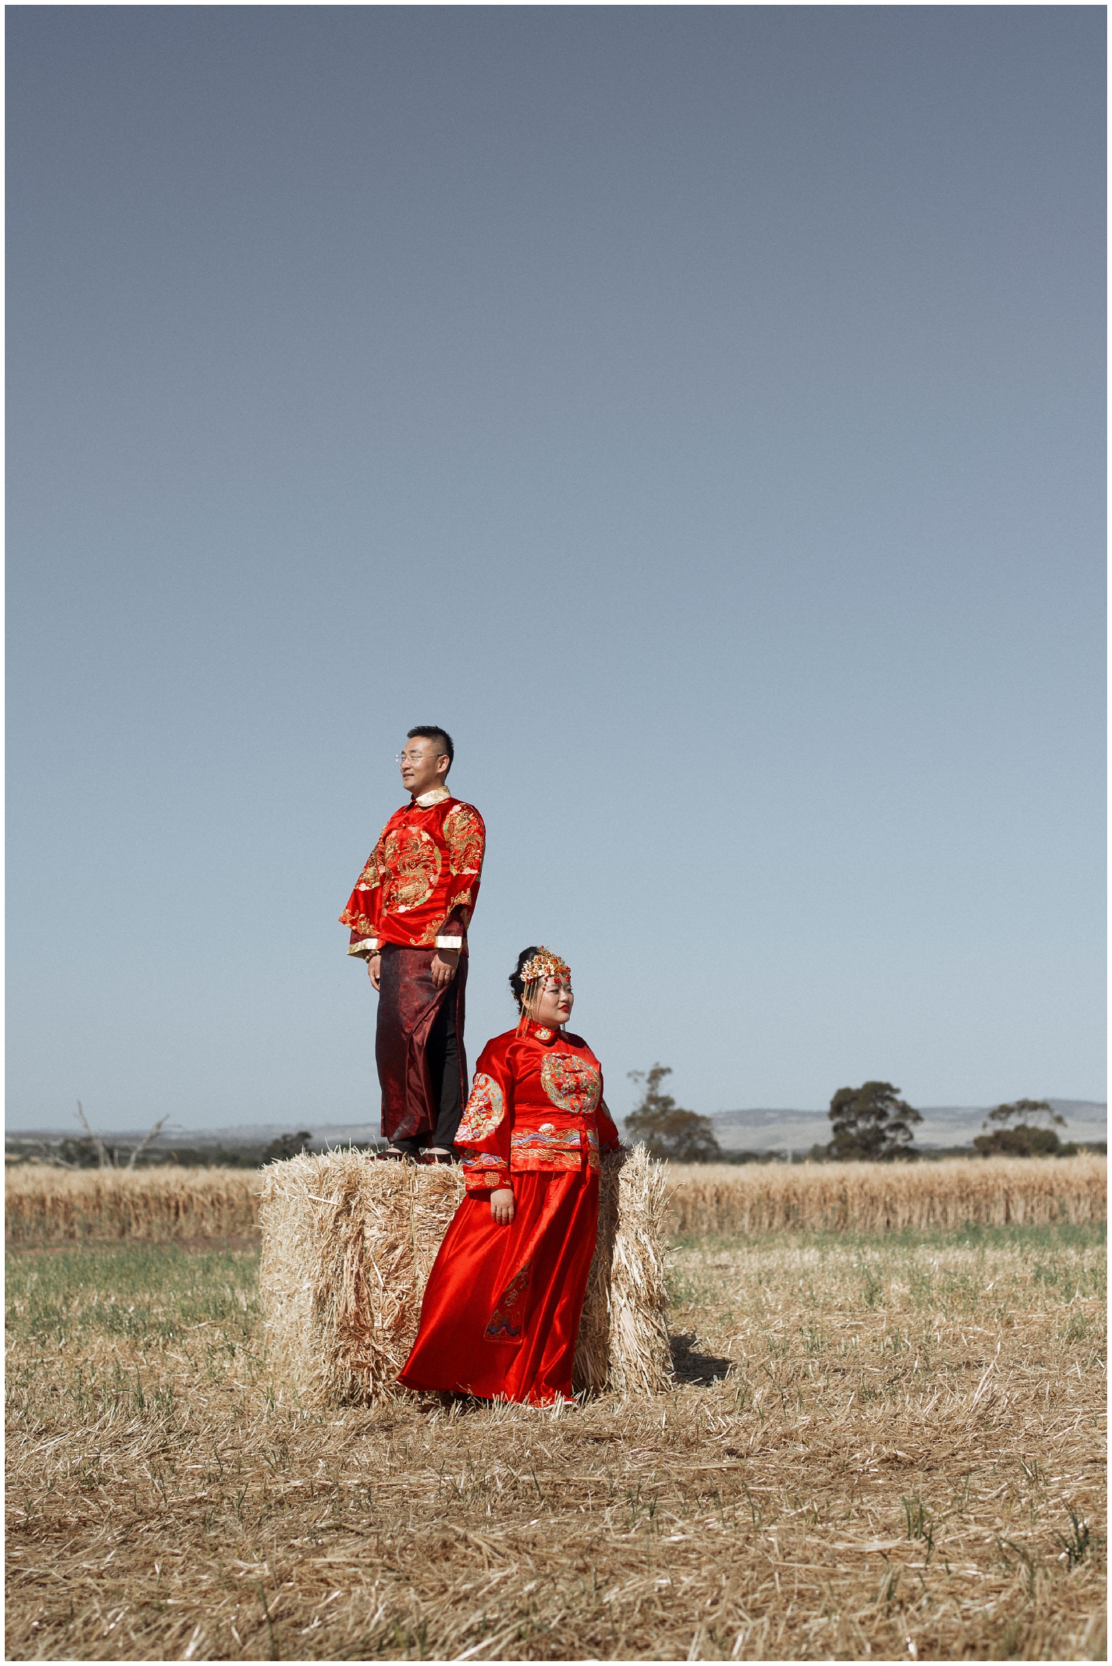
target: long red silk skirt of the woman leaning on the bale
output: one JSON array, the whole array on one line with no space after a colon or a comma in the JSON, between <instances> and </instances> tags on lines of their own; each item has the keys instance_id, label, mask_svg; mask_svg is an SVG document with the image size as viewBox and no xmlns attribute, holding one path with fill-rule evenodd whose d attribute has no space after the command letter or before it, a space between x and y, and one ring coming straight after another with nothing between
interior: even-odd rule
<instances>
[{"instance_id":1,"label":"long red silk skirt of the woman leaning on the bale","mask_svg":"<svg viewBox=\"0 0 1112 1666\"><path fill-rule=\"evenodd\" d=\"M398 1383L548 1404L572 1393L575 1336L599 1228L599 1175L513 1175L517 1213L463 1198L428 1274Z\"/></svg>"}]
</instances>

